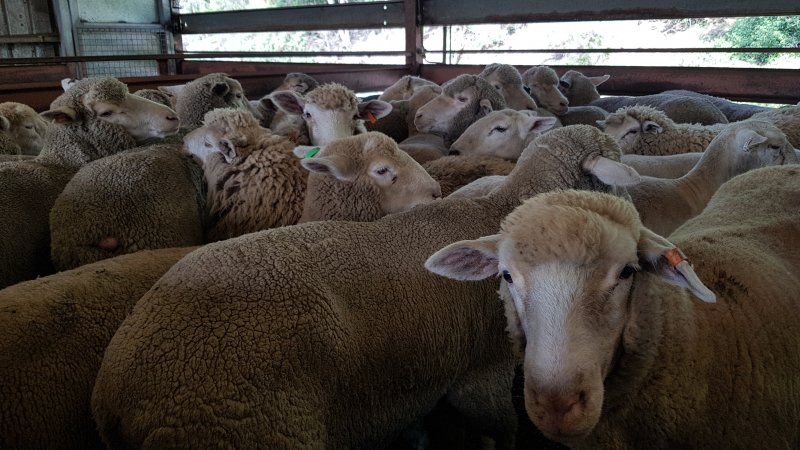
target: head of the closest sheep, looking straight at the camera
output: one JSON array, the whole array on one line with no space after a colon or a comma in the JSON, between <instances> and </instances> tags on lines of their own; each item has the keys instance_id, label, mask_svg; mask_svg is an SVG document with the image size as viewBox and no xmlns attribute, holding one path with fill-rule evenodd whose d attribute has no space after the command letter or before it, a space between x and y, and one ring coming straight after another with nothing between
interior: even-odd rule
<instances>
[{"instance_id":1,"label":"head of the closest sheep, looking straight at the camera","mask_svg":"<svg viewBox=\"0 0 800 450\"><path fill-rule=\"evenodd\" d=\"M524 352L528 415L549 438L574 445L600 420L634 274L652 272L714 300L681 257L642 227L629 202L563 191L526 201L500 234L445 247L426 267L461 279L502 276L508 328Z\"/></svg>"}]
</instances>

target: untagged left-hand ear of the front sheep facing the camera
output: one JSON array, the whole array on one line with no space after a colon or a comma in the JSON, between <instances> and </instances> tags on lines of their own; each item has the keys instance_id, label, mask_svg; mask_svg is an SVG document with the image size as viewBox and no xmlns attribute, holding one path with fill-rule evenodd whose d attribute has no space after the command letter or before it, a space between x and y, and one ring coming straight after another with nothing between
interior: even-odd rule
<instances>
[{"instance_id":1,"label":"untagged left-hand ear of the front sheep facing the camera","mask_svg":"<svg viewBox=\"0 0 800 450\"><path fill-rule=\"evenodd\" d=\"M425 268L454 280L483 280L497 274L500 235L459 241L431 255Z\"/></svg>"}]
</instances>

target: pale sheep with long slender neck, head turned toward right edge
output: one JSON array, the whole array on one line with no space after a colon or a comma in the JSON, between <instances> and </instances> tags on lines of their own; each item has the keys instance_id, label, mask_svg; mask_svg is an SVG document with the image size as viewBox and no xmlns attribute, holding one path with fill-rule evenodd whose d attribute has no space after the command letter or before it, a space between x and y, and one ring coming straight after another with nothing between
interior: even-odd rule
<instances>
[{"instance_id":1,"label":"pale sheep with long slender neck, head turned toward right edge","mask_svg":"<svg viewBox=\"0 0 800 450\"><path fill-rule=\"evenodd\" d=\"M642 223L666 236L699 214L731 177L762 166L795 163L800 160L780 129L750 119L728 125L686 175L674 180L645 177L628 193Z\"/></svg>"}]
</instances>

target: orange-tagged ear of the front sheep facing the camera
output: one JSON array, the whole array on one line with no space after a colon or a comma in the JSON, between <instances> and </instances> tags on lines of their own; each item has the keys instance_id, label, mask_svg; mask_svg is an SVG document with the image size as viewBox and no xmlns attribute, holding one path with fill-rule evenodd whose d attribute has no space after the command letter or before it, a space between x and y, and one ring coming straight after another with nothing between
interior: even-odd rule
<instances>
[{"instance_id":1,"label":"orange-tagged ear of the front sheep facing the camera","mask_svg":"<svg viewBox=\"0 0 800 450\"><path fill-rule=\"evenodd\" d=\"M665 238L642 228L637 250L642 270L654 273L667 283L688 289L706 303L716 302L717 296L700 281L683 252Z\"/></svg>"}]
</instances>

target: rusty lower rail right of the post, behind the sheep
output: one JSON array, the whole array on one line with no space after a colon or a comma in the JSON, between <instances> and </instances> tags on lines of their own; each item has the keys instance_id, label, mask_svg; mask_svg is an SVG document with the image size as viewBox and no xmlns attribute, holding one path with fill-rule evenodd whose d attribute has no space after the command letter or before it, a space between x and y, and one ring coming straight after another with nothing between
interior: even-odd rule
<instances>
[{"instance_id":1,"label":"rusty lower rail right of the post, behind the sheep","mask_svg":"<svg viewBox=\"0 0 800 450\"><path fill-rule=\"evenodd\" d=\"M529 66L517 66L525 71ZM768 103L800 101L800 70L696 67L551 66L589 76L611 75L598 87L604 95L645 95L669 89L689 89L709 95ZM483 66L425 65L421 75L443 83L462 73L478 74Z\"/></svg>"}]
</instances>

